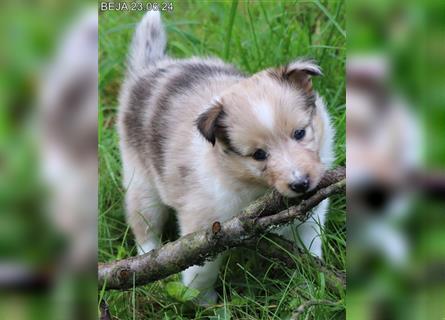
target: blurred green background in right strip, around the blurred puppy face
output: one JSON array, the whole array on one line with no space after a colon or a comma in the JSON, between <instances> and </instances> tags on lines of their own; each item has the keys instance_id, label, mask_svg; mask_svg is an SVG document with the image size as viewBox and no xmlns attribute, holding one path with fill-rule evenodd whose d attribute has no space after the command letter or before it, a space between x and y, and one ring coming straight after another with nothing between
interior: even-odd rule
<instances>
[{"instance_id":1,"label":"blurred green background in right strip, around the blurred puppy face","mask_svg":"<svg viewBox=\"0 0 445 320\"><path fill-rule=\"evenodd\" d=\"M391 66L388 86L400 93L423 130L424 167L443 177L445 67L443 1L349 1L348 57L379 54ZM443 178L442 178L443 179ZM417 197L405 222L410 263L400 270L349 263L348 319L445 317L445 216L443 195ZM360 271L360 272L359 272Z\"/></svg>"}]
</instances>

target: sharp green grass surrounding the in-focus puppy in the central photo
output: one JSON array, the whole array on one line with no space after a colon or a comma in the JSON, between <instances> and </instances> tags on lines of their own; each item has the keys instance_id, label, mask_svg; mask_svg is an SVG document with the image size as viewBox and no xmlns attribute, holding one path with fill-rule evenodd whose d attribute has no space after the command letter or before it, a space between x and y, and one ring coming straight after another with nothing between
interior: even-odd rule
<instances>
[{"instance_id":1,"label":"sharp green grass surrounding the in-focus puppy in the central photo","mask_svg":"<svg viewBox=\"0 0 445 320\"><path fill-rule=\"evenodd\" d=\"M174 3L163 19L169 55L218 56L254 73L312 57L324 77L314 86L324 96L337 130L336 164L345 164L345 22L344 3L335 1ZM115 129L117 96L125 57L142 12L102 12L99 47L99 260L136 253L125 223L121 163ZM324 238L330 268L344 271L346 259L345 198L332 201ZM277 248L279 250L279 248ZM325 299L334 306L314 306L303 317L338 319L345 315L345 289L329 286L325 276L302 258L290 269L255 252L233 250L217 282L220 303L202 308L178 293L179 276L126 292L102 292L119 319L288 319L307 300ZM101 288L99 288L100 290ZM182 301L181 301L182 300Z\"/></svg>"}]
</instances>

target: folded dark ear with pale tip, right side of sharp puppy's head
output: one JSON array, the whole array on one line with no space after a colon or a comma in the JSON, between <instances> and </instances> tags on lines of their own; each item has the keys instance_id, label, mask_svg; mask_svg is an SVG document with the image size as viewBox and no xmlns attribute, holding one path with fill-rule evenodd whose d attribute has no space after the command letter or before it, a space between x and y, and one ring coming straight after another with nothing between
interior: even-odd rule
<instances>
[{"instance_id":1,"label":"folded dark ear with pale tip, right side of sharp puppy's head","mask_svg":"<svg viewBox=\"0 0 445 320\"><path fill-rule=\"evenodd\" d=\"M296 60L279 69L279 76L312 94L312 77L322 75L320 67L312 60Z\"/></svg>"}]
</instances>

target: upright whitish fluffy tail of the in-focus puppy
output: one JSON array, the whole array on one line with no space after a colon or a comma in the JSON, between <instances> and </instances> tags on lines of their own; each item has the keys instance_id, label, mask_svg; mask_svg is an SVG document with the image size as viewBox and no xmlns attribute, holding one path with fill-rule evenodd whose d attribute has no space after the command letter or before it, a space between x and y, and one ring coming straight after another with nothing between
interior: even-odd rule
<instances>
[{"instance_id":1,"label":"upright whitish fluffy tail of the in-focus puppy","mask_svg":"<svg viewBox=\"0 0 445 320\"><path fill-rule=\"evenodd\" d=\"M128 59L128 69L137 75L165 56L167 37L159 11L148 11L136 27Z\"/></svg>"}]
</instances>

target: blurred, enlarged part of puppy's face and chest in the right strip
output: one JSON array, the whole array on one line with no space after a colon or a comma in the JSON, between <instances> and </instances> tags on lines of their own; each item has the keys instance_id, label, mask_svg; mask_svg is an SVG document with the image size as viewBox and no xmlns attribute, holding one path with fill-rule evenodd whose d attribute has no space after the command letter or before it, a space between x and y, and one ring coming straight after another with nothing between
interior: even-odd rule
<instances>
[{"instance_id":1,"label":"blurred, enlarged part of puppy's face and chest in the right strip","mask_svg":"<svg viewBox=\"0 0 445 320\"><path fill-rule=\"evenodd\" d=\"M400 224L411 206L409 176L421 165L422 133L388 85L389 67L380 55L348 57L348 249L351 261L378 254L399 268L409 258Z\"/></svg>"}]
</instances>

